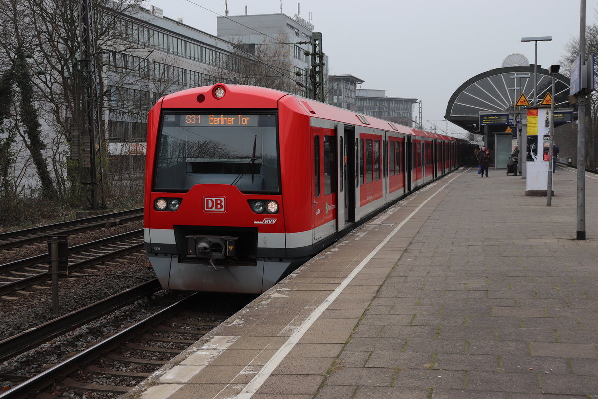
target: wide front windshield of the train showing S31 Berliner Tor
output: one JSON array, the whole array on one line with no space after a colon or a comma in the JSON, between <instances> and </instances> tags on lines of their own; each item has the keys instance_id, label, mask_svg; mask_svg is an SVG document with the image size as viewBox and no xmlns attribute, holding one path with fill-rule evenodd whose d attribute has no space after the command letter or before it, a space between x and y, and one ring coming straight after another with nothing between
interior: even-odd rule
<instances>
[{"instance_id":1,"label":"wide front windshield of the train showing S31 Berliner Tor","mask_svg":"<svg viewBox=\"0 0 598 399\"><path fill-rule=\"evenodd\" d=\"M275 114L165 113L154 190L218 183L244 193L277 193L278 165Z\"/></svg>"}]
</instances>

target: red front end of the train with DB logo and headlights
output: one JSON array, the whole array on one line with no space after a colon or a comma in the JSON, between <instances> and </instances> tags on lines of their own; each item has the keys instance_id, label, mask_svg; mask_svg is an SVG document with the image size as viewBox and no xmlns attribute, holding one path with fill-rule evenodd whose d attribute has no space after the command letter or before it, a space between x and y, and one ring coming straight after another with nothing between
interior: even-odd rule
<instances>
[{"instance_id":1,"label":"red front end of the train with DB logo and headlights","mask_svg":"<svg viewBox=\"0 0 598 399\"><path fill-rule=\"evenodd\" d=\"M311 223L299 216L309 177L281 173L306 165L307 142L279 136L279 120L307 126L293 108L285 93L218 85L166 96L149 112L144 235L164 288L261 293L310 257L300 236ZM294 151L281 158L281 145ZM283 180L292 181L285 197Z\"/></svg>"}]
</instances>

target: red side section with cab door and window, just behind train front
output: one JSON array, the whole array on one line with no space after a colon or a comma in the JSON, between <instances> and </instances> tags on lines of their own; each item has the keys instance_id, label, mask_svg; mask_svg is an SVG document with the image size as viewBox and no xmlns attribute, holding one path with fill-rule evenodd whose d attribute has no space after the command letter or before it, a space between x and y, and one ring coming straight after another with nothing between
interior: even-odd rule
<instances>
[{"instance_id":1,"label":"red side section with cab door and window, just behind train front","mask_svg":"<svg viewBox=\"0 0 598 399\"><path fill-rule=\"evenodd\" d=\"M334 129L312 126L313 239L335 231L337 212L337 139Z\"/></svg>"}]
</instances>

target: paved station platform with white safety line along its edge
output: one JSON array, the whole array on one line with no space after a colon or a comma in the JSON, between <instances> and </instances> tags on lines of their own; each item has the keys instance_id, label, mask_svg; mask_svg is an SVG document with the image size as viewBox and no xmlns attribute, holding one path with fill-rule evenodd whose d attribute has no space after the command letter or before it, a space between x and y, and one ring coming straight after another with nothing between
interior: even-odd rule
<instances>
[{"instance_id":1,"label":"paved station platform with white safety line along its edge","mask_svg":"<svg viewBox=\"0 0 598 399\"><path fill-rule=\"evenodd\" d=\"M598 175L462 168L348 234L122 398L598 398Z\"/></svg>"}]
</instances>

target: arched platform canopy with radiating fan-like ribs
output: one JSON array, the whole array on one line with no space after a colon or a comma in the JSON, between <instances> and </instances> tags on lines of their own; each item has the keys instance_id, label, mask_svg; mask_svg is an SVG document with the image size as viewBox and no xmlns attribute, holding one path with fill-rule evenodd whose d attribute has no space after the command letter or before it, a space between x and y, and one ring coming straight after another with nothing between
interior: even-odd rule
<instances>
[{"instance_id":1,"label":"arched platform canopy with radiating fan-like ribs","mask_svg":"<svg viewBox=\"0 0 598 399\"><path fill-rule=\"evenodd\" d=\"M552 77L548 69L537 68L536 95L538 104L547 92L551 91ZM529 78L512 78L529 75ZM569 108L569 78L556 74L555 108ZM451 96L444 115L446 120L463 127L471 133L480 132L480 112L523 111L523 106L515 106L521 93L533 99L533 65L496 68L476 75L463 83Z\"/></svg>"}]
</instances>

